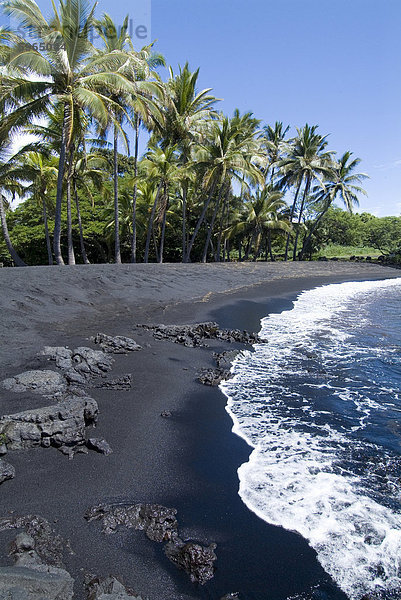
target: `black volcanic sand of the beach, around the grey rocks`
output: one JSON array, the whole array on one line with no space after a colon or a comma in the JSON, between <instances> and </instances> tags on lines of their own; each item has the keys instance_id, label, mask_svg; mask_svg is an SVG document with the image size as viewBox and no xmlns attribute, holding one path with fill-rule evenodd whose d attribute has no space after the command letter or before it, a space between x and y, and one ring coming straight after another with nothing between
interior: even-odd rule
<instances>
[{"instance_id":1,"label":"black volcanic sand of the beach, around the grey rocks","mask_svg":"<svg viewBox=\"0 0 401 600\"><path fill-rule=\"evenodd\" d=\"M83 600L84 573L112 574L150 600L344 599L299 535L270 526L240 500L237 468L250 448L231 433L226 398L196 382L212 365L213 350L156 341L136 323L216 320L221 327L259 330L260 318L291 308L305 289L334 282L397 277L374 265L96 265L0 271L1 379L43 367L44 345L93 344L98 331L132 336L140 352L116 356L113 376L132 373L129 391L93 389L99 423L93 434L114 452L69 461L55 449L10 452L15 479L0 487L1 514L48 519L73 554L65 564ZM67 299L67 300L64 300ZM240 347L229 346L228 349ZM53 368L50 363L50 368ZM38 397L0 391L1 414L49 404ZM162 411L170 418L162 418ZM178 510L181 536L217 543L215 577L200 587L164 556L161 544L141 531L101 533L87 523L87 508L100 502L155 502ZM0 563L14 532L0 533ZM312 590L315 590L314 592ZM297 596L298 598L298 596Z\"/></svg>"}]
</instances>

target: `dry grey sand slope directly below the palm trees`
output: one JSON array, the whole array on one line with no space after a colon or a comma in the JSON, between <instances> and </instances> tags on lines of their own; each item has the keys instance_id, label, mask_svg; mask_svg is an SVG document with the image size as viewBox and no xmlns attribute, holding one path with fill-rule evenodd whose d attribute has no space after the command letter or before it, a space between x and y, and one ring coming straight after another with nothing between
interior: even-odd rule
<instances>
[{"instance_id":1,"label":"dry grey sand slope directly below the palm trees","mask_svg":"<svg viewBox=\"0 0 401 600\"><path fill-rule=\"evenodd\" d=\"M0 373L31 358L45 343L93 323L151 307L284 278L398 276L355 263L77 265L0 269Z\"/></svg>"}]
</instances>

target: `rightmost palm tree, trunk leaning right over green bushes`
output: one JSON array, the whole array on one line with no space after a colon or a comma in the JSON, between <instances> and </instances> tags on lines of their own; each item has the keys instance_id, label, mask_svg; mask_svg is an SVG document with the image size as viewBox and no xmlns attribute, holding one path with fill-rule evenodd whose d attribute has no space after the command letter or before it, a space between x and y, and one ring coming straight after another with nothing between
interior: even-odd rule
<instances>
[{"instance_id":1,"label":"rightmost palm tree, trunk leaning right over green bushes","mask_svg":"<svg viewBox=\"0 0 401 600\"><path fill-rule=\"evenodd\" d=\"M368 175L353 172L360 162L360 158L352 159L352 152L345 152L335 165L332 178L325 182L323 188L317 187L314 190L313 203L321 206L321 211L310 226L308 235L305 236L299 260L302 260L312 235L337 197L341 198L348 212L352 212L353 207L359 205L358 194L367 195L359 184L367 179Z\"/></svg>"}]
</instances>

